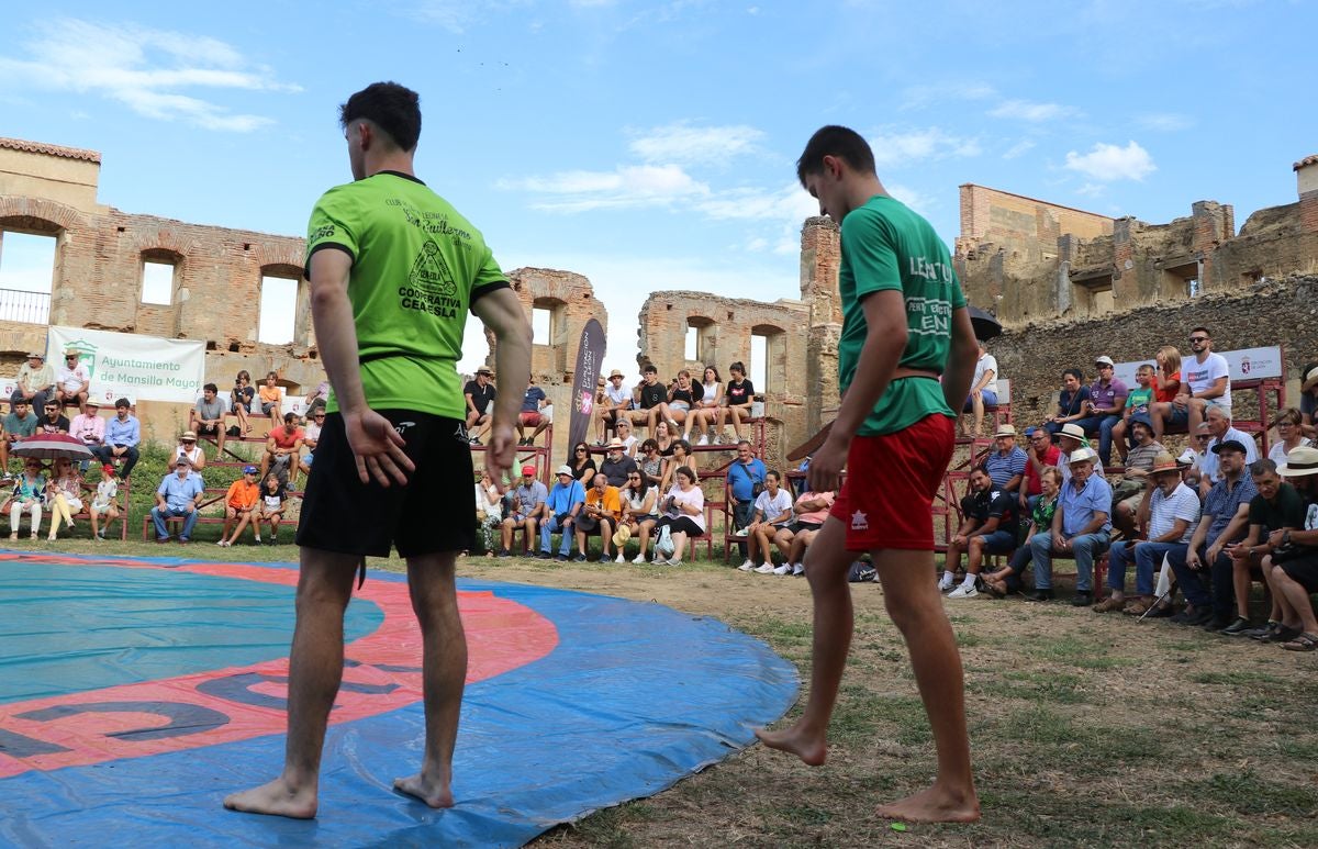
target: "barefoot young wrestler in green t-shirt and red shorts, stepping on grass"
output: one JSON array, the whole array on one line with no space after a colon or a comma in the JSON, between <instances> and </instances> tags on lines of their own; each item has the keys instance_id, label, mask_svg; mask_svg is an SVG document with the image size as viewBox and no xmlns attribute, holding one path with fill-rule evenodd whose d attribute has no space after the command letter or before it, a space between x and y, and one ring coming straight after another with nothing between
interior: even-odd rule
<instances>
[{"instance_id":1,"label":"barefoot young wrestler in green t-shirt and red shorts, stepping on grass","mask_svg":"<svg viewBox=\"0 0 1318 849\"><path fill-rule=\"evenodd\" d=\"M952 459L953 410L965 402L978 353L965 297L946 245L928 221L888 196L858 133L820 129L796 174L820 202L820 214L842 229L844 398L828 440L811 460L809 488L837 489L844 467L849 475L807 555L815 599L809 701L791 728L757 733L805 763L824 763L851 643L847 568L869 551L888 616L911 654L938 753L932 787L878 812L908 823L974 821L979 802L961 655L934 581L927 506Z\"/></svg>"}]
</instances>

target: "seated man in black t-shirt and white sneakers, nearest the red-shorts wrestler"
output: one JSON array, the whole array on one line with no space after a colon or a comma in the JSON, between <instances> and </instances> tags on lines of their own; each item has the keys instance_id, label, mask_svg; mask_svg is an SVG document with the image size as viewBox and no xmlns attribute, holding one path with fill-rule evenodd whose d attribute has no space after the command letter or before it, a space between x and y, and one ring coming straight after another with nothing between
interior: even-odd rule
<instances>
[{"instance_id":1,"label":"seated man in black t-shirt and white sneakers, nearest the red-shorts wrestler","mask_svg":"<svg viewBox=\"0 0 1318 849\"><path fill-rule=\"evenodd\" d=\"M961 500L961 527L948 543L942 579L938 589L949 599L973 599L979 595L979 572L986 554L1011 554L1020 533L1020 505L1010 493L994 486L988 469L977 465L970 469L970 492ZM966 577L953 589L956 573L961 570L961 555L969 552Z\"/></svg>"}]
</instances>

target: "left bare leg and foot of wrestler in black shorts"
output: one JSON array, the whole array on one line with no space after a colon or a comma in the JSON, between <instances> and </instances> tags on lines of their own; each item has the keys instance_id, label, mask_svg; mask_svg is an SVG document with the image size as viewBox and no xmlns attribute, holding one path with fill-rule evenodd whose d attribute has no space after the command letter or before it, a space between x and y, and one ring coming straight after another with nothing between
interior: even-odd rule
<instances>
[{"instance_id":1,"label":"left bare leg and foot of wrestler in black shorts","mask_svg":"<svg viewBox=\"0 0 1318 849\"><path fill-rule=\"evenodd\" d=\"M326 725L343 679L343 612L356 577L353 555L302 550L298 621L289 654L289 738L283 773L224 799L224 807L294 819L316 815Z\"/></svg>"}]
</instances>

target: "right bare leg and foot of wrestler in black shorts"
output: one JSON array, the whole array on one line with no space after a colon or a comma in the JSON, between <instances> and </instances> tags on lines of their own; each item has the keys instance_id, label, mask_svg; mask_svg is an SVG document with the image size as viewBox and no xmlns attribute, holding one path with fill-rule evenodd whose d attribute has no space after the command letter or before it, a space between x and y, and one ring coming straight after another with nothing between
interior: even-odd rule
<instances>
[{"instance_id":1,"label":"right bare leg and foot of wrestler in black shorts","mask_svg":"<svg viewBox=\"0 0 1318 849\"><path fill-rule=\"evenodd\" d=\"M420 773L394 780L394 790L432 808L453 807L453 744L467 680L467 637L457 614L453 554L407 558L413 610L420 624L426 754Z\"/></svg>"}]
</instances>

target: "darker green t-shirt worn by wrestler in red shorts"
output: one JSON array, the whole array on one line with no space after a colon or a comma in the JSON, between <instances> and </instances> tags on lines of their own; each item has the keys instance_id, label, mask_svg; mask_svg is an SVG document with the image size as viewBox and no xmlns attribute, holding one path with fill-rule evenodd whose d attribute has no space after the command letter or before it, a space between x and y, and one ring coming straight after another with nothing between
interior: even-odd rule
<instances>
[{"instance_id":1,"label":"darker green t-shirt worn by wrestler in red shorts","mask_svg":"<svg viewBox=\"0 0 1318 849\"><path fill-rule=\"evenodd\" d=\"M952 348L952 312L966 306L948 247L927 220L899 200L870 198L842 219L842 336L838 340L838 382L851 385L865 345L865 295L900 289L907 307L907 345L900 365L942 373ZM858 431L863 436L892 434L927 415L953 417L938 381L908 377L892 381Z\"/></svg>"}]
</instances>

